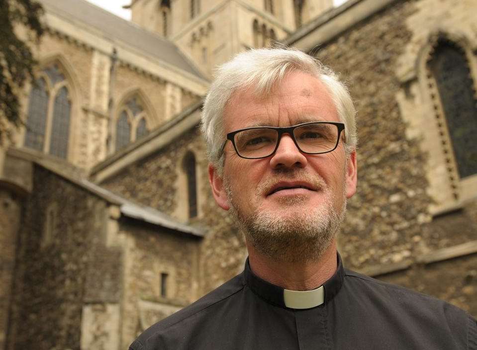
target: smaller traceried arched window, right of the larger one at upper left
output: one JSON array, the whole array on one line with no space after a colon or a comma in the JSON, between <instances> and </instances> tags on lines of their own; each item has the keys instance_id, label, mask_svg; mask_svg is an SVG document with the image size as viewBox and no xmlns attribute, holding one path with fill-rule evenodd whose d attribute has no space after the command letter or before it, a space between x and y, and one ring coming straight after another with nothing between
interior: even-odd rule
<instances>
[{"instance_id":1,"label":"smaller traceried arched window, right of the larger one at upper left","mask_svg":"<svg viewBox=\"0 0 477 350\"><path fill-rule=\"evenodd\" d=\"M146 112L137 96L127 100L119 110L115 128L116 151L149 133Z\"/></svg>"}]
</instances>

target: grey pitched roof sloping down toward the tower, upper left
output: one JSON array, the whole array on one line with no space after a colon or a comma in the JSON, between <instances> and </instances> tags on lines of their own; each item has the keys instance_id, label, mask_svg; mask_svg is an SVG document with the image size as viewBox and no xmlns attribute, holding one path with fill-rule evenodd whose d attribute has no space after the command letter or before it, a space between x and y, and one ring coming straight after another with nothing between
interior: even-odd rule
<instances>
[{"instance_id":1,"label":"grey pitched roof sloping down toward the tower, upper left","mask_svg":"<svg viewBox=\"0 0 477 350\"><path fill-rule=\"evenodd\" d=\"M118 17L86 0L39 0L45 10L84 23L111 41L121 41L147 55L174 65L201 79L204 76L171 41Z\"/></svg>"}]
</instances>

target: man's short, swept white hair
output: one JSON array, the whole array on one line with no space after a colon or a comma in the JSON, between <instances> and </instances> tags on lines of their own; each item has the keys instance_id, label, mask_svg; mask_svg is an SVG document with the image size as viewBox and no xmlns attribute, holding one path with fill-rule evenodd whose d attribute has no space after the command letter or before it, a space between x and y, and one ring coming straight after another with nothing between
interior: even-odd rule
<instances>
[{"instance_id":1,"label":"man's short, swept white hair","mask_svg":"<svg viewBox=\"0 0 477 350\"><path fill-rule=\"evenodd\" d=\"M266 96L292 71L308 73L328 88L340 120L345 124L346 152L350 154L356 149L358 138L353 100L330 68L296 49L253 49L239 53L218 67L205 97L201 128L209 161L217 170L221 171L223 166L220 162L222 145L226 140L223 113L231 95L237 90L254 87L257 95Z\"/></svg>"}]
</instances>

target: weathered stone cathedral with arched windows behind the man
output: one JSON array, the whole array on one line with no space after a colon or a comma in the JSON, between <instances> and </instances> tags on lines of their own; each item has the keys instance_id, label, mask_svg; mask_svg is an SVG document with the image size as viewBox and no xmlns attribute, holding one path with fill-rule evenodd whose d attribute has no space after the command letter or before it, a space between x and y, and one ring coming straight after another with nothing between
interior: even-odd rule
<instances>
[{"instance_id":1,"label":"weathered stone cathedral with arched windows behind the man","mask_svg":"<svg viewBox=\"0 0 477 350\"><path fill-rule=\"evenodd\" d=\"M36 82L0 149L0 350L120 350L243 268L198 130L213 69L296 47L347 82L346 267L477 316L475 0L41 0Z\"/></svg>"}]
</instances>

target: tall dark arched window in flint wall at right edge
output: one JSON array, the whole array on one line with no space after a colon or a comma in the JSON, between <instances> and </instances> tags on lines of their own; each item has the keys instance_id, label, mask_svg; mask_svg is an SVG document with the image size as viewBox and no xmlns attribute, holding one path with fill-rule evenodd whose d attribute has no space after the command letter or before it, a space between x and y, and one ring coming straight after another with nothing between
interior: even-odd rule
<instances>
[{"instance_id":1,"label":"tall dark arched window in flint wall at right edge","mask_svg":"<svg viewBox=\"0 0 477 350\"><path fill-rule=\"evenodd\" d=\"M477 100L465 52L441 39L428 62L461 178L477 174Z\"/></svg>"}]
</instances>

